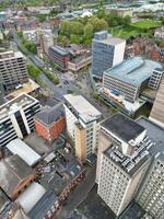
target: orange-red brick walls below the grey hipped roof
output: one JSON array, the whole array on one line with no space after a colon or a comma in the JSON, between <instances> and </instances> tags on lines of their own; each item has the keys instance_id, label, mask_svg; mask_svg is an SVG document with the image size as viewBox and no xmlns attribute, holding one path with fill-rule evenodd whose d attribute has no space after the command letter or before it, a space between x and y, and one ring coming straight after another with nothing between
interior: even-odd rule
<instances>
[{"instance_id":1,"label":"orange-red brick walls below the grey hipped roof","mask_svg":"<svg viewBox=\"0 0 164 219\"><path fill-rule=\"evenodd\" d=\"M59 135L63 131L65 127L66 127L65 117L59 118L49 128L44 126L42 123L35 120L35 128L37 135L42 136L45 140L48 140L49 142L57 139Z\"/></svg>"}]
</instances>

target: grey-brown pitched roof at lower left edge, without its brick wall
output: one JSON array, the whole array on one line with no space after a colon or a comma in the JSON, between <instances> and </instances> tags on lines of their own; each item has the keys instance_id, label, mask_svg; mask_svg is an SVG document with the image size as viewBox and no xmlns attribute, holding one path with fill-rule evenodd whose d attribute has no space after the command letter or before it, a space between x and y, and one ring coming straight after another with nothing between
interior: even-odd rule
<instances>
[{"instance_id":1,"label":"grey-brown pitched roof at lower left edge, without its brick wall","mask_svg":"<svg viewBox=\"0 0 164 219\"><path fill-rule=\"evenodd\" d=\"M0 160L0 187L9 196L22 180L34 174L33 170L17 154Z\"/></svg>"}]
</instances>

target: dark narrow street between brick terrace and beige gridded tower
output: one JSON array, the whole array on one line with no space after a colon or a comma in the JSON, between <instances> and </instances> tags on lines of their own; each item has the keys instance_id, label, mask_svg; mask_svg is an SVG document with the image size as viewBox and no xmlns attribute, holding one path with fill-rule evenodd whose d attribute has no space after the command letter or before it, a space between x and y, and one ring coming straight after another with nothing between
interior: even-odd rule
<instances>
[{"instance_id":1,"label":"dark narrow street between brick terrace and beige gridded tower","mask_svg":"<svg viewBox=\"0 0 164 219\"><path fill-rule=\"evenodd\" d=\"M61 207L54 219L67 219L72 210L74 210L87 196L95 184L96 166L92 166L85 178L69 195L67 205Z\"/></svg>"}]
</instances>

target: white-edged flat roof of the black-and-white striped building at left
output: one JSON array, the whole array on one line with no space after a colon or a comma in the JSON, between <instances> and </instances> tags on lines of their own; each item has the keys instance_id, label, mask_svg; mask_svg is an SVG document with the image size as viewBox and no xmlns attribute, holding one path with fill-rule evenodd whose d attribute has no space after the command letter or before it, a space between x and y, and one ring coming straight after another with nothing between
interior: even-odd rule
<instances>
[{"instance_id":1,"label":"white-edged flat roof of the black-and-white striped building at left","mask_svg":"<svg viewBox=\"0 0 164 219\"><path fill-rule=\"evenodd\" d=\"M38 103L38 101L28 94L20 94L19 96L8 101L0 106L0 119L5 118L11 111L17 110L20 107L25 108L33 103Z\"/></svg>"}]
</instances>

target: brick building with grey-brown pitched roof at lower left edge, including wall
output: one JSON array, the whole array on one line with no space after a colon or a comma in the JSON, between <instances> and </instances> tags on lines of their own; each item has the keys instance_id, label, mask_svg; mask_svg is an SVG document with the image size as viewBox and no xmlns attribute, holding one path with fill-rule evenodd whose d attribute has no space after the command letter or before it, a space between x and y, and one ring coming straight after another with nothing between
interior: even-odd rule
<instances>
[{"instance_id":1,"label":"brick building with grey-brown pitched roof at lower left edge, including wall","mask_svg":"<svg viewBox=\"0 0 164 219\"><path fill-rule=\"evenodd\" d=\"M36 177L35 172L17 155L0 160L0 187L15 199Z\"/></svg>"}]
</instances>

